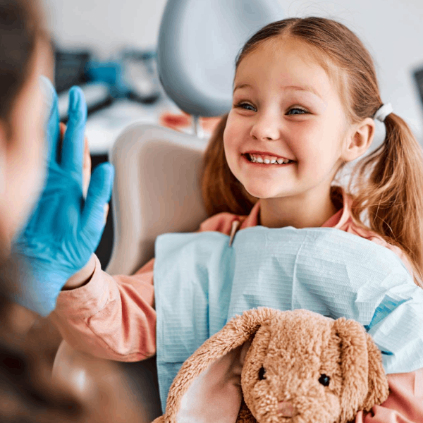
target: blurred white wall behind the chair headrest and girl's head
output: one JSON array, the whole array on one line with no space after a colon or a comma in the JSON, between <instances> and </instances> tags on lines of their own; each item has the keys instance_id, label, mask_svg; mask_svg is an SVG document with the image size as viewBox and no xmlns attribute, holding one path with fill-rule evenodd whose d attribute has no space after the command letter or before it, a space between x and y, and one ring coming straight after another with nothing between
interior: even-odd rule
<instances>
[{"instance_id":1,"label":"blurred white wall behind the chair headrest and girl's head","mask_svg":"<svg viewBox=\"0 0 423 423\"><path fill-rule=\"evenodd\" d=\"M286 17L331 17L354 30L374 56L382 99L393 104L423 142L423 107L412 79L412 70L423 66L422 0L279 2ZM92 47L106 57L125 45L154 47L166 0L44 0L44 4L61 46Z\"/></svg>"}]
</instances>

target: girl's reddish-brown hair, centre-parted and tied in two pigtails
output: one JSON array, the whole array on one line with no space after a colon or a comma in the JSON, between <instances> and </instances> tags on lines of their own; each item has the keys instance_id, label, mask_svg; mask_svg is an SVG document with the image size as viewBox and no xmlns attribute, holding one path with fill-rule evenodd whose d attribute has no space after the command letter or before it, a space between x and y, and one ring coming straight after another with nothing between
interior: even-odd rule
<instances>
[{"instance_id":1,"label":"girl's reddish-brown hair, centre-parted and tied in two pigtails","mask_svg":"<svg viewBox=\"0 0 423 423\"><path fill-rule=\"evenodd\" d=\"M350 123L373 117L381 101L372 56L345 25L325 18L289 18L266 25L240 51L240 62L264 42L293 39L311 47L310 54L338 87ZM202 192L207 212L248 214L255 199L235 180L223 152L227 116L207 147ZM407 255L417 283L423 287L423 161L422 149L405 121L385 119L384 142L361 159L350 181L352 217Z\"/></svg>"}]
</instances>

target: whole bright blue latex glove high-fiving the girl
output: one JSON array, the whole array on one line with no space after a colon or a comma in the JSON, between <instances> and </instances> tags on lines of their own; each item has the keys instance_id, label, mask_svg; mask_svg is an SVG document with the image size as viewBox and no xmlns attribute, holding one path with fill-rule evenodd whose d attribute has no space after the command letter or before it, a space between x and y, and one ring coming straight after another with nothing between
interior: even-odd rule
<instances>
[{"instance_id":1,"label":"whole bright blue latex glove high-fiving the girl","mask_svg":"<svg viewBox=\"0 0 423 423\"><path fill-rule=\"evenodd\" d=\"M51 98L47 122L47 180L29 221L13 245L28 274L20 279L14 300L43 316L56 305L61 288L87 264L104 230L104 206L114 178L111 164L92 173L87 197L82 195L82 157L87 106L82 90L69 93L69 121L58 151L60 129L57 94L42 78Z\"/></svg>"}]
</instances>

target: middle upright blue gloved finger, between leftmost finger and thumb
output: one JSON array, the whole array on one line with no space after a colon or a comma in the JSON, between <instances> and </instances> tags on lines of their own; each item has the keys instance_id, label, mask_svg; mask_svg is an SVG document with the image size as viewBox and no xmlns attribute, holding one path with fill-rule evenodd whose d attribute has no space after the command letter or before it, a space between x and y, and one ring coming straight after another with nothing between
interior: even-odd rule
<instances>
[{"instance_id":1,"label":"middle upright blue gloved finger, between leftmost finger and thumb","mask_svg":"<svg viewBox=\"0 0 423 423\"><path fill-rule=\"evenodd\" d=\"M61 168L72 172L81 184L82 190L82 157L84 153L84 131L87 121L87 104L80 87L72 87L69 92L69 121L63 137L61 152Z\"/></svg>"}]
</instances>

